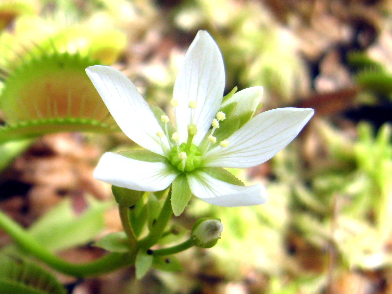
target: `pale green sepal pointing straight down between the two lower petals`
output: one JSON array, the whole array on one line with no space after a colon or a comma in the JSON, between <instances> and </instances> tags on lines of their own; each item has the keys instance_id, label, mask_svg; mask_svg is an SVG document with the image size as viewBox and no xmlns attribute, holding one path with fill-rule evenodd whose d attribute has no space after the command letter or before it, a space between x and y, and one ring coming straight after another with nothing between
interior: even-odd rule
<instances>
[{"instance_id":1,"label":"pale green sepal pointing straight down between the two lower petals","mask_svg":"<svg viewBox=\"0 0 392 294\"><path fill-rule=\"evenodd\" d=\"M172 210L176 217L182 214L191 197L186 175L181 173L172 183Z\"/></svg>"}]
</instances>

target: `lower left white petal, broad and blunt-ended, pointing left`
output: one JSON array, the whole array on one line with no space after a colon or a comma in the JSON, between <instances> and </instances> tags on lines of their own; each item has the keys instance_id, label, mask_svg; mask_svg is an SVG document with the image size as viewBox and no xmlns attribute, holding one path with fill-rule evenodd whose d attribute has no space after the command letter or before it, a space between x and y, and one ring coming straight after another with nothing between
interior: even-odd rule
<instances>
[{"instance_id":1,"label":"lower left white petal, broad and blunt-ended, pointing left","mask_svg":"<svg viewBox=\"0 0 392 294\"><path fill-rule=\"evenodd\" d=\"M178 172L164 162L146 162L106 152L94 177L109 184L137 191L161 191L169 187Z\"/></svg>"}]
</instances>

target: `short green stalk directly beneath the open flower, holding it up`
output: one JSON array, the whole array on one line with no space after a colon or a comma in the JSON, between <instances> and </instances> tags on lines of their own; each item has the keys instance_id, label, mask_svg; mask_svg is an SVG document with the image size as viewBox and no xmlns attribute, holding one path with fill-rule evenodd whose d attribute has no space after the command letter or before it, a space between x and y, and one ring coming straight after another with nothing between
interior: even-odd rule
<instances>
[{"instance_id":1,"label":"short green stalk directly beneath the open flower, holding it up","mask_svg":"<svg viewBox=\"0 0 392 294\"><path fill-rule=\"evenodd\" d=\"M170 218L172 217L172 188L169 190L169 194L166 197L165 203L162 206L161 212L155 221L155 224L151 228L148 235L139 242L140 248L149 248L152 245L158 243L161 238L164 229L168 225Z\"/></svg>"}]
</instances>

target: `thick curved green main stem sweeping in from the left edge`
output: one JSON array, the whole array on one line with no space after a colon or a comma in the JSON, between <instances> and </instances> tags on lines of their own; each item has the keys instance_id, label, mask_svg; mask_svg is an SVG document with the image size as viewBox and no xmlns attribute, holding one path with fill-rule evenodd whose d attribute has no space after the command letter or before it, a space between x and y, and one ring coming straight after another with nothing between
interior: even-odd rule
<instances>
[{"instance_id":1,"label":"thick curved green main stem sweeping in from the left edge","mask_svg":"<svg viewBox=\"0 0 392 294\"><path fill-rule=\"evenodd\" d=\"M110 253L91 263L73 264L43 248L19 224L0 211L0 227L27 253L45 262L49 267L75 277L93 276L134 264L135 254Z\"/></svg>"}]
</instances>

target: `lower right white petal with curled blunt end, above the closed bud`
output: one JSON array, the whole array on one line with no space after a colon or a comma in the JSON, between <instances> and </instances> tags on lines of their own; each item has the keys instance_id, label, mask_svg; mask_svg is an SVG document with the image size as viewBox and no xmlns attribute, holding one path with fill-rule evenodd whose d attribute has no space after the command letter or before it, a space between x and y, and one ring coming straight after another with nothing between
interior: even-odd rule
<instances>
[{"instance_id":1,"label":"lower right white petal with curled blunt end, above the closed bud","mask_svg":"<svg viewBox=\"0 0 392 294\"><path fill-rule=\"evenodd\" d=\"M267 201L267 191L261 184L238 186L213 178L205 172L187 174L189 188L201 200L219 206L249 206Z\"/></svg>"}]
</instances>

